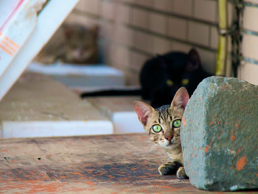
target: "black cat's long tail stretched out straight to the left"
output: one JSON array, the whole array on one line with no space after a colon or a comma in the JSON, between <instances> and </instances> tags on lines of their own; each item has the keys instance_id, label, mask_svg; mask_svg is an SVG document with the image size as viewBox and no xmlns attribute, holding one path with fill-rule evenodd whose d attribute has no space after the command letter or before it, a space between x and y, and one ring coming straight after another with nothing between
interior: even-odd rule
<instances>
[{"instance_id":1,"label":"black cat's long tail stretched out straight to the left","mask_svg":"<svg viewBox=\"0 0 258 194\"><path fill-rule=\"evenodd\" d=\"M142 91L140 89L128 89L128 90L103 90L97 92L84 92L81 94L81 98L94 97L94 96L138 96L141 95Z\"/></svg>"}]
</instances>

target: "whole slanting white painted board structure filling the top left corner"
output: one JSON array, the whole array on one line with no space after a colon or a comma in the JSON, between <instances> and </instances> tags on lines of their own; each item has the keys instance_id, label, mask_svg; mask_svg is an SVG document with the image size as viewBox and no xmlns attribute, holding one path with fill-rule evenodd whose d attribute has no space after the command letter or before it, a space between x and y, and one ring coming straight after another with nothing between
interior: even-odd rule
<instances>
[{"instance_id":1,"label":"whole slanting white painted board structure filling the top left corner","mask_svg":"<svg viewBox=\"0 0 258 194\"><path fill-rule=\"evenodd\" d=\"M9 0L0 2L9 2ZM50 0L37 14L37 11L41 9L40 5L42 6L44 2L45 0L23 0L16 13L20 13L21 18L17 18L18 15L15 14L3 31L0 31L0 39L9 37L13 40L12 44L15 43L19 47L18 50L13 51L13 55L9 55L10 53L8 54L3 49L0 50L0 100L62 24L78 0ZM29 16L28 20L25 16ZM20 21L22 18L26 21ZM25 28L28 27L27 33L25 33L26 30L20 29L23 25L17 25L23 24L21 22L24 22ZM19 33L25 33L25 35L19 39ZM18 37L17 41L15 37Z\"/></svg>"}]
</instances>

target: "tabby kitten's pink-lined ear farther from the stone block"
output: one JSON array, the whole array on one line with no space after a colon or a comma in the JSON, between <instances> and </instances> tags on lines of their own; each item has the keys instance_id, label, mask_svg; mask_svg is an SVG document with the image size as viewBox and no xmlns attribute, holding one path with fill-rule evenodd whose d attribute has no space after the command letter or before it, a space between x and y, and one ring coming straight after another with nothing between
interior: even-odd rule
<instances>
[{"instance_id":1,"label":"tabby kitten's pink-lined ear farther from the stone block","mask_svg":"<svg viewBox=\"0 0 258 194\"><path fill-rule=\"evenodd\" d=\"M148 118L155 111L153 107L148 104L135 100L133 102L135 113L138 115L139 121L145 126Z\"/></svg>"}]
</instances>

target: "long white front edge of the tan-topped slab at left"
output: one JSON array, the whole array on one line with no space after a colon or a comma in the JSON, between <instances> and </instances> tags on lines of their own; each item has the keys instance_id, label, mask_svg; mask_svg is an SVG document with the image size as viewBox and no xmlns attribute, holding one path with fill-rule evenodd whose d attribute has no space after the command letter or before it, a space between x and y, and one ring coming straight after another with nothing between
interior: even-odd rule
<instances>
[{"instance_id":1,"label":"long white front edge of the tan-topped slab at left","mask_svg":"<svg viewBox=\"0 0 258 194\"><path fill-rule=\"evenodd\" d=\"M3 138L112 134L110 121L4 121Z\"/></svg>"}]
</instances>

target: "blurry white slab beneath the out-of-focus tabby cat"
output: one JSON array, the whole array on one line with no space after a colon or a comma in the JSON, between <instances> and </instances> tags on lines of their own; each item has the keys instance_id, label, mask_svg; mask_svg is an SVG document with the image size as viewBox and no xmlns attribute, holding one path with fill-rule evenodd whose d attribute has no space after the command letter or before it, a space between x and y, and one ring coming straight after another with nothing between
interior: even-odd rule
<instances>
[{"instance_id":1,"label":"blurry white slab beneath the out-of-focus tabby cat","mask_svg":"<svg viewBox=\"0 0 258 194\"><path fill-rule=\"evenodd\" d=\"M56 62L43 65L33 62L26 71L49 75L68 87L84 92L124 87L124 73L103 64L73 65Z\"/></svg>"}]
</instances>

